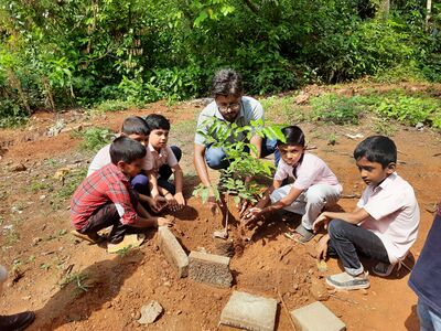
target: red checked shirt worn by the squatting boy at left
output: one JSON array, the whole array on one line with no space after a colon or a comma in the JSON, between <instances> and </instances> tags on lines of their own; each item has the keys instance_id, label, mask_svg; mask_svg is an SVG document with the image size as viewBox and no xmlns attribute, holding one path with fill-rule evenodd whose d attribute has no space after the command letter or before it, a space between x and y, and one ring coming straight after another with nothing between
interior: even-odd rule
<instances>
[{"instance_id":1,"label":"red checked shirt worn by the squatting boy at left","mask_svg":"<svg viewBox=\"0 0 441 331\"><path fill-rule=\"evenodd\" d=\"M87 177L76 189L71 201L71 220L76 229L107 203L114 203L121 223L135 224L138 214L130 201L131 186L127 177L114 163L107 164Z\"/></svg>"}]
</instances>

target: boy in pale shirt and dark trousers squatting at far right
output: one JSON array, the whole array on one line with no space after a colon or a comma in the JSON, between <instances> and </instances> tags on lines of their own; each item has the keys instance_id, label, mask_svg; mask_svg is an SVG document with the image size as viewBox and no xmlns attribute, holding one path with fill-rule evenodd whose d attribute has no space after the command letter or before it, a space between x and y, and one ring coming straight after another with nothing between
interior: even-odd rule
<instances>
[{"instance_id":1,"label":"boy in pale shirt and dark trousers squatting at far right","mask_svg":"<svg viewBox=\"0 0 441 331\"><path fill-rule=\"evenodd\" d=\"M367 184L352 213L324 212L314 222L327 227L319 242L319 258L337 255L345 273L329 276L326 284L337 289L369 287L358 255L378 260L374 274L388 276L417 239L420 213L412 186L396 172L397 148L384 136L362 141L354 159Z\"/></svg>"}]
</instances>

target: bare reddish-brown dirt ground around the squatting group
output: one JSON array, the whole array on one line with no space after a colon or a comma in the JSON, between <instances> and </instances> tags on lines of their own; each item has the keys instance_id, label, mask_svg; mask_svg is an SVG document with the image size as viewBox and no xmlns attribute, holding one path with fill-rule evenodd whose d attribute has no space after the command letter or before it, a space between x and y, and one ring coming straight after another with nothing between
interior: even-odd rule
<instances>
[{"instance_id":1,"label":"bare reddish-brown dirt ground around the squatting group","mask_svg":"<svg viewBox=\"0 0 441 331\"><path fill-rule=\"evenodd\" d=\"M311 89L316 92L318 87ZM233 290L282 300L289 310L315 300L313 293L324 284L323 276L340 273L342 268L336 259L330 259L327 271L319 273L312 256L315 242L300 245L284 236L299 221L292 214L270 215L248 243L238 239L237 222L232 222L230 237L236 254L230 264L234 275L230 289L178 279L159 252L155 231L147 231L149 239L139 249L121 255L109 255L106 249L69 235L69 200L62 192L69 177L84 173L93 153L79 149L80 135L67 130L49 137L47 130L63 119L67 129L82 125L117 131L127 116L160 113L172 121L171 143L184 151L181 164L189 205L174 215L176 224L172 231L189 253L218 253L219 244L212 234L220 227L219 220L198 199L191 196L198 183L192 166L192 141L195 118L201 110L197 103L173 106L158 103L146 109L94 117L79 110L40 113L26 127L0 130L1 264L11 270L1 295L2 314L34 310L37 318L29 330L228 330L218 327L218 321ZM278 119L276 115L267 113L267 116ZM345 199L340 201L340 206L352 210L356 196L364 190L352 159L354 147L363 138L346 135L372 135L369 117L359 126L311 122L300 126L309 146L314 148L312 152L324 159L343 183ZM335 145L329 145L330 134L336 138ZM412 184L421 210L418 241L405 261L411 268L440 200L441 135L427 128L398 126L392 138L399 149L398 173ZM54 179L63 168L66 182ZM370 261L365 263L372 266ZM372 276L368 290L330 290L331 297L323 303L348 330L418 330L417 297L407 285L408 277L406 268L395 270L387 278ZM162 305L163 314L149 327L138 324L140 308L152 299ZM277 330L291 330L282 305L278 308L276 325Z\"/></svg>"}]
</instances>

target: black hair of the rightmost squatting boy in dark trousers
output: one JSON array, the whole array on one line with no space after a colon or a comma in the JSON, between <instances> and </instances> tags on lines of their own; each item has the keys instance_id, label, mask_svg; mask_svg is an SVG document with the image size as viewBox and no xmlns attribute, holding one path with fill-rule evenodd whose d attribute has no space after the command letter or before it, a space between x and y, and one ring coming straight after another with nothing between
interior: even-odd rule
<instances>
[{"instance_id":1,"label":"black hair of the rightmost squatting boy in dark trousers","mask_svg":"<svg viewBox=\"0 0 441 331\"><path fill-rule=\"evenodd\" d=\"M397 147L385 136L370 136L363 140L354 150L354 159L365 157L369 162L377 162L385 169L389 163L397 163Z\"/></svg>"}]
</instances>

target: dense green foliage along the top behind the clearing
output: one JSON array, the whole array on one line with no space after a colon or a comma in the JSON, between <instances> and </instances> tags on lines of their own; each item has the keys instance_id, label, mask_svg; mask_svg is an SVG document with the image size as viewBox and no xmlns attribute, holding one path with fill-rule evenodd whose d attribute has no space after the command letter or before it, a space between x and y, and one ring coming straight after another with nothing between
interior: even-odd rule
<instances>
[{"instance_id":1,"label":"dense green foliage along the top behind the clearing","mask_svg":"<svg viewBox=\"0 0 441 331\"><path fill-rule=\"evenodd\" d=\"M440 6L378 0L0 0L0 118L39 107L251 94L365 75L441 81Z\"/></svg>"}]
</instances>

